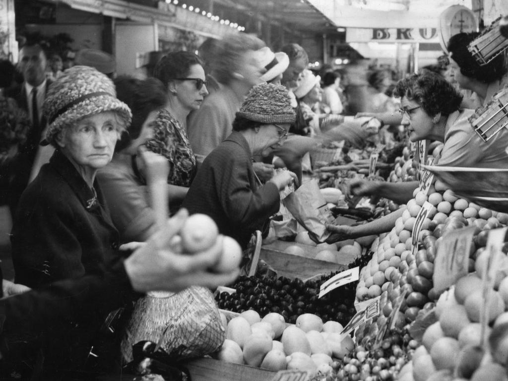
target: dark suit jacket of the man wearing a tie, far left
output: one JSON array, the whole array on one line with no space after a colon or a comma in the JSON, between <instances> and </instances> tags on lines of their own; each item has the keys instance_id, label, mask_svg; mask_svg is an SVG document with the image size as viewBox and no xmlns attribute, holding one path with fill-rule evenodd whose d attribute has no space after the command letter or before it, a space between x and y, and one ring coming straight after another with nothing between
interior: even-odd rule
<instances>
[{"instance_id":1,"label":"dark suit jacket of the man wearing a tie, far left","mask_svg":"<svg viewBox=\"0 0 508 381\"><path fill-rule=\"evenodd\" d=\"M46 80L46 93L51 83L52 82L49 79ZM25 110L28 114L26 88L24 83L10 89L7 96L13 98L17 102L18 106ZM37 154L37 148L42 140L42 133L46 129L46 125L47 120L43 115L39 128L35 129L33 126L30 128L26 136L25 144L19 147L19 151L12 161L8 203L13 218L19 203L19 198L28 184L31 168Z\"/></svg>"}]
</instances>

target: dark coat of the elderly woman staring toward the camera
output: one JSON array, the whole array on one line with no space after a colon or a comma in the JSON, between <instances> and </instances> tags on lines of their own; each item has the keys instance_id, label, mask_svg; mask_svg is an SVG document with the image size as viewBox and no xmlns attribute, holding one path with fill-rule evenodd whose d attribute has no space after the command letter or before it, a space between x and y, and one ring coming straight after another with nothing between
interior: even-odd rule
<instances>
[{"instance_id":1,"label":"dark coat of the elderly woman staring toward the camera","mask_svg":"<svg viewBox=\"0 0 508 381\"><path fill-rule=\"evenodd\" d=\"M118 260L114 228L99 184L97 198L59 150L23 193L14 218L11 243L15 282L39 289L61 279L103 277ZM106 315L96 303L79 306L50 336L42 336L45 364L76 368L97 345Z\"/></svg>"}]
</instances>

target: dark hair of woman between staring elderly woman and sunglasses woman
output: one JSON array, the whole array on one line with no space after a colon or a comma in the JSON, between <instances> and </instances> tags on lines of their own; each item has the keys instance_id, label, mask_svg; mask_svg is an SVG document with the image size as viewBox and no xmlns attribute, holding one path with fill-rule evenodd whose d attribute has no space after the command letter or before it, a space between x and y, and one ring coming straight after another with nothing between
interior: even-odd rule
<instances>
[{"instance_id":1,"label":"dark hair of woman between staring elderly woman and sunglasses woman","mask_svg":"<svg viewBox=\"0 0 508 381\"><path fill-rule=\"evenodd\" d=\"M140 80L129 76L120 76L113 82L116 86L116 97L128 105L132 111L131 125L128 126L115 146L115 151L121 151L139 137L148 114L166 105L168 93L166 87L156 78Z\"/></svg>"}]
</instances>

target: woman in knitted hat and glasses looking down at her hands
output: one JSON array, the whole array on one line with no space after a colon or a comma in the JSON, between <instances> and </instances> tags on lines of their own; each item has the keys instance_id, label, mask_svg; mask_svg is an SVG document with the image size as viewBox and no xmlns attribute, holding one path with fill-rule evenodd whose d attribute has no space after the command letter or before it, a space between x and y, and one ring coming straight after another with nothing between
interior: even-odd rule
<instances>
[{"instance_id":1,"label":"woman in knitted hat and glasses looking down at her hands","mask_svg":"<svg viewBox=\"0 0 508 381\"><path fill-rule=\"evenodd\" d=\"M280 171L264 185L252 168L252 157L279 147L295 120L288 91L263 83L253 87L233 122L233 132L205 158L183 207L190 214L213 218L220 233L245 248L251 234L267 227L279 210L279 191L296 180Z\"/></svg>"}]
</instances>

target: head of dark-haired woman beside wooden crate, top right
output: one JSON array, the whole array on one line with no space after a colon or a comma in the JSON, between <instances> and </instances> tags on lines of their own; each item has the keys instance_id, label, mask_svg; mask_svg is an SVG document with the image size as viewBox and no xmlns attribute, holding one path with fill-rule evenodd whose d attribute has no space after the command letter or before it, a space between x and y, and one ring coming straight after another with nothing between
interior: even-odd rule
<instances>
[{"instance_id":1,"label":"head of dark-haired woman beside wooden crate, top right","mask_svg":"<svg viewBox=\"0 0 508 381\"><path fill-rule=\"evenodd\" d=\"M472 97L464 99L462 103L462 107L470 109L484 106L506 83L506 64L502 54L480 66L467 49L469 43L478 36L478 33L459 33L448 42L451 75L461 89L473 92Z\"/></svg>"}]
</instances>

